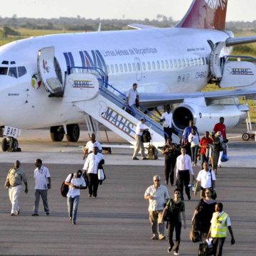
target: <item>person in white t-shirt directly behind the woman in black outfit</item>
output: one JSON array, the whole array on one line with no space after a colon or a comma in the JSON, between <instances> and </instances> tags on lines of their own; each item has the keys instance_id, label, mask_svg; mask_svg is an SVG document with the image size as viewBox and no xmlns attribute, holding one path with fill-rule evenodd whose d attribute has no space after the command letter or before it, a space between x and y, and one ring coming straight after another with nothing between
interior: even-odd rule
<instances>
[{"instance_id":1,"label":"person in white t-shirt directly behind the woman in black outfit","mask_svg":"<svg viewBox=\"0 0 256 256\"><path fill-rule=\"evenodd\" d=\"M201 186L200 196L201 198L205 198L206 188L212 188L215 190L215 181L216 176L214 171L209 169L208 162L204 161L203 170L199 171L198 176L196 177L196 188L194 191L194 196L196 196L197 187Z\"/></svg>"}]
</instances>

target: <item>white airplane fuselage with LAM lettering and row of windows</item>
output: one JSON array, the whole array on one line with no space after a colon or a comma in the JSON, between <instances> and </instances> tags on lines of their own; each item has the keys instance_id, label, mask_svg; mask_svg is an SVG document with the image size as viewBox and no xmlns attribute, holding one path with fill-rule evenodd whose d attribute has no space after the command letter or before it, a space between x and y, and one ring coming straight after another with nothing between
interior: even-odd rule
<instances>
[{"instance_id":1,"label":"white airplane fuselage with LAM lettering and row of windows","mask_svg":"<svg viewBox=\"0 0 256 256\"><path fill-rule=\"evenodd\" d=\"M200 91L209 80L208 41L228 37L223 31L156 28L39 36L9 43L0 48L0 68L25 67L26 74L0 75L0 125L32 129L84 121L77 107L62 97L48 97L40 85L41 48L55 47L63 82L68 66L97 66L121 92L137 82L139 92L186 94ZM230 48L225 50L228 54ZM1 64L4 60L9 63Z\"/></svg>"}]
</instances>

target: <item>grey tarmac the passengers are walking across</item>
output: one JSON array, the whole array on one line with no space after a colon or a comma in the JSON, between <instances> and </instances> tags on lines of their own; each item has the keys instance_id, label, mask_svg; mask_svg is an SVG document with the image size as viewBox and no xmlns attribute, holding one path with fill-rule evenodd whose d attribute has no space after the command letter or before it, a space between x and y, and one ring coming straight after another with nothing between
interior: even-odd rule
<instances>
[{"instance_id":1,"label":"grey tarmac the passengers are walking across","mask_svg":"<svg viewBox=\"0 0 256 256\"><path fill-rule=\"evenodd\" d=\"M151 225L144 191L159 174L164 183L164 157L159 160L132 161L132 149L112 149L105 154L107 179L99 187L97 198L81 191L77 225L68 219L66 198L60 195L63 180L82 168L81 145L88 140L82 132L81 142L50 142L48 130L24 131L19 138L21 152L0 152L0 255L169 255L168 240L151 240ZM108 132L109 139L122 139ZM230 235L225 240L223 255L256 255L256 142L242 142L240 130L230 137L230 160L218 169L218 201L230 215L235 245ZM106 142L102 132L102 141ZM48 191L50 215L32 217L34 203L33 161L41 158L50 169L52 189ZM28 194L19 199L21 214L10 216L11 204L4 189L7 171L14 160L21 161L28 175ZM195 174L199 166L193 168ZM168 185L170 196L174 186ZM189 228L198 196L186 204L187 228L181 231L181 255L197 255L198 243L189 240ZM173 252L171 252L172 255Z\"/></svg>"}]
</instances>

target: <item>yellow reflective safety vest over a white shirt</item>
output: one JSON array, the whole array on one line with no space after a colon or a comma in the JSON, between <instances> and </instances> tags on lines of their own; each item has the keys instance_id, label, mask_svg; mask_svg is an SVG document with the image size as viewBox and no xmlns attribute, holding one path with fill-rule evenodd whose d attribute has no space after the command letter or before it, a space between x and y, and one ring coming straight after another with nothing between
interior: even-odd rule
<instances>
[{"instance_id":1,"label":"yellow reflective safety vest over a white shirt","mask_svg":"<svg viewBox=\"0 0 256 256\"><path fill-rule=\"evenodd\" d=\"M218 217L218 213L213 213L213 223L211 224L212 238L225 238L228 233L228 214L224 213Z\"/></svg>"}]
</instances>

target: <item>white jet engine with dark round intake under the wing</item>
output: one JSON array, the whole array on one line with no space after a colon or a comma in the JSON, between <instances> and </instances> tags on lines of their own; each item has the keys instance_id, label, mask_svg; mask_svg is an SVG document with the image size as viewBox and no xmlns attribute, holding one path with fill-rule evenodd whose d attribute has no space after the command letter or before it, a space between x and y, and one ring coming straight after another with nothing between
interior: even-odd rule
<instances>
[{"instance_id":1,"label":"white jet engine with dark round intake under the wing","mask_svg":"<svg viewBox=\"0 0 256 256\"><path fill-rule=\"evenodd\" d=\"M206 131L213 131L213 127L220 121L220 117L225 118L227 128L232 128L244 121L246 118L246 105L210 105L198 106L190 103L178 105L173 112L173 124L176 129L183 131L188 126L189 120L198 128L198 132L203 134Z\"/></svg>"}]
</instances>

